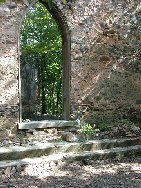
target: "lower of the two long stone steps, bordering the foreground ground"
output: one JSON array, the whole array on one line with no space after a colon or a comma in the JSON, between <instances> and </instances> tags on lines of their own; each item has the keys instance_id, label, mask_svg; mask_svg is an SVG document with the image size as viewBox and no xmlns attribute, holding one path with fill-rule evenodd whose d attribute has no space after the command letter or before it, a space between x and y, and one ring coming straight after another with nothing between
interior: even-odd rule
<instances>
[{"instance_id":1,"label":"lower of the two long stone steps, bordering the foreground ground","mask_svg":"<svg viewBox=\"0 0 141 188\"><path fill-rule=\"evenodd\" d=\"M44 164L57 164L58 162L74 162L83 160L106 160L114 159L121 160L124 157L137 157L141 156L141 145L129 146L129 147L117 147L104 150L95 151L83 151L83 152L70 152L70 153L59 153L52 154L49 156L41 156L34 158L23 158L18 160L4 160L0 162L0 169L6 167L20 167L22 165L36 165L40 163Z\"/></svg>"}]
</instances>

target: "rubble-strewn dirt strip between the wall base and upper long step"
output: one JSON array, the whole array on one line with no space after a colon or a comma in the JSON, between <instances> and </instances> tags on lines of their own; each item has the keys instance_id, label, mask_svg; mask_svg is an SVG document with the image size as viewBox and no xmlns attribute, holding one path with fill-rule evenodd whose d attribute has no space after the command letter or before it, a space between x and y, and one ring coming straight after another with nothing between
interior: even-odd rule
<instances>
[{"instance_id":1,"label":"rubble-strewn dirt strip between the wall base and upper long step","mask_svg":"<svg viewBox=\"0 0 141 188\"><path fill-rule=\"evenodd\" d=\"M35 145L37 142L60 142L60 141L85 141L86 136L80 134L78 131L69 132L67 129L58 131L56 128L43 129L43 130L26 130L18 131L12 134L6 128L0 130L0 147L9 146L24 146L24 145ZM117 138L133 138L140 137L141 129L138 126L132 124L119 124L112 126L109 130L98 132L92 135L90 140L98 139L117 139Z\"/></svg>"}]
</instances>

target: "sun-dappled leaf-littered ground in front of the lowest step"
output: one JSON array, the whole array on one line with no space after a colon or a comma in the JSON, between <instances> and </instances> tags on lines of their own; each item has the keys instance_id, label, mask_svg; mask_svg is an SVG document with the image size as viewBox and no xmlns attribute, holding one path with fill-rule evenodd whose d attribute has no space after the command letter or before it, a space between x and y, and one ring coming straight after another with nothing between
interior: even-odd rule
<instances>
[{"instance_id":1,"label":"sun-dappled leaf-littered ground in front of the lowest step","mask_svg":"<svg viewBox=\"0 0 141 188\"><path fill-rule=\"evenodd\" d=\"M58 162L0 169L2 188L141 188L141 158Z\"/></svg>"}]
</instances>

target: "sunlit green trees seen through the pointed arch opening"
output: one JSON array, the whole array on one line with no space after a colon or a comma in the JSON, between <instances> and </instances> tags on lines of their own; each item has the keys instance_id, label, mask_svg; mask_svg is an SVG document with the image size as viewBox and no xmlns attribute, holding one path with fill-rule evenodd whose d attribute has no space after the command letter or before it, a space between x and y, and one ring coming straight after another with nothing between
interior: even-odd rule
<instances>
[{"instance_id":1,"label":"sunlit green trees seen through the pointed arch opening","mask_svg":"<svg viewBox=\"0 0 141 188\"><path fill-rule=\"evenodd\" d=\"M61 114L62 37L58 24L41 3L34 4L22 22L20 47L21 69L28 63L38 73L36 108L42 114Z\"/></svg>"}]
</instances>

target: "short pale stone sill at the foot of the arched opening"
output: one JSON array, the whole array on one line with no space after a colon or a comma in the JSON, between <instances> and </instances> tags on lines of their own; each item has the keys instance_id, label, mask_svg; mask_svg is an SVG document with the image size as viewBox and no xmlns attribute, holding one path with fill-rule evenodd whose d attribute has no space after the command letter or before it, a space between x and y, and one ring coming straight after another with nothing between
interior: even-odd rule
<instances>
[{"instance_id":1,"label":"short pale stone sill at the foot of the arched opening","mask_svg":"<svg viewBox=\"0 0 141 188\"><path fill-rule=\"evenodd\" d=\"M77 121L65 120L42 120L42 121L27 121L18 124L18 129L45 129L45 128L62 128L78 126Z\"/></svg>"}]
</instances>

